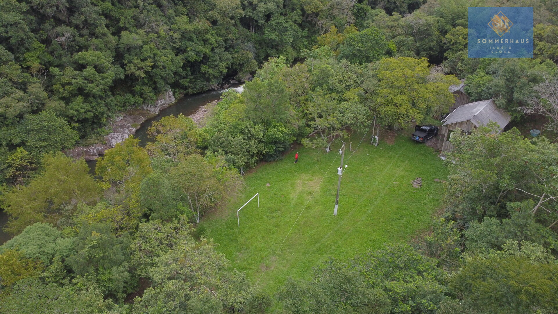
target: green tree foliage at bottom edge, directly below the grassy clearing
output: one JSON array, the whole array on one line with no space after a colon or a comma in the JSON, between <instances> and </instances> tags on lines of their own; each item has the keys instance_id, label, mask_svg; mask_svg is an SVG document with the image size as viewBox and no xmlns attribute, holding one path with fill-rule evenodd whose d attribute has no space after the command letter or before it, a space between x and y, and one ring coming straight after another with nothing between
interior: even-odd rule
<instances>
[{"instance_id":1,"label":"green tree foliage at bottom edge, directly below the grassy clearing","mask_svg":"<svg viewBox=\"0 0 558 314\"><path fill-rule=\"evenodd\" d=\"M347 262L331 259L311 280L292 279L278 294L290 313L436 313L445 299L436 260L390 245Z\"/></svg>"}]
</instances>

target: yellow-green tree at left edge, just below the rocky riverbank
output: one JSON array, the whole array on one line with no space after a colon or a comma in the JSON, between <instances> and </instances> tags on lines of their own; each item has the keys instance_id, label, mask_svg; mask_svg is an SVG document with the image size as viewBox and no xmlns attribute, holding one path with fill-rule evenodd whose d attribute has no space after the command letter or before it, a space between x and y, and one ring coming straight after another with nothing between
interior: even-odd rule
<instances>
[{"instance_id":1,"label":"yellow-green tree at left edge, just below the rocky riverbank","mask_svg":"<svg viewBox=\"0 0 558 314\"><path fill-rule=\"evenodd\" d=\"M96 203L101 195L99 184L89 175L83 159L74 160L62 153L45 155L45 170L28 185L3 195L10 216L6 230L18 234L35 222L56 222L80 203Z\"/></svg>"}]
</instances>

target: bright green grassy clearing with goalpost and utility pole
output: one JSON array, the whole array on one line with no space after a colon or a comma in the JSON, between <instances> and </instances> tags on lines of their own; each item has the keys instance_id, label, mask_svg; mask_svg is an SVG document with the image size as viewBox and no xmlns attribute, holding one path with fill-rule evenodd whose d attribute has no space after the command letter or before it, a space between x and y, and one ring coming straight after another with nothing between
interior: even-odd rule
<instances>
[{"instance_id":1,"label":"bright green grassy clearing with goalpost and utility pole","mask_svg":"<svg viewBox=\"0 0 558 314\"><path fill-rule=\"evenodd\" d=\"M362 134L353 136L353 149L360 139ZM433 149L407 136L393 145L381 140L374 148L367 135L354 154L347 149L337 216L338 151L298 152L297 164L292 151L254 169L244 177L243 196L203 222L218 251L266 292L275 292L289 276L310 277L328 256L352 258L408 241L429 227L440 206L442 183L434 179L446 177L445 166ZM419 190L410 183L415 177L423 179ZM237 209L257 192L260 207L254 198L240 211L238 227Z\"/></svg>"}]
</instances>

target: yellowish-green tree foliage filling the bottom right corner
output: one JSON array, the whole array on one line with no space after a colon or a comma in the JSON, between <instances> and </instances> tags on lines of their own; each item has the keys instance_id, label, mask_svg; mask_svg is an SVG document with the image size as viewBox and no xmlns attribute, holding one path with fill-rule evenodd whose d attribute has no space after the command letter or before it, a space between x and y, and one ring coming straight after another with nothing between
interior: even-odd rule
<instances>
[{"instance_id":1,"label":"yellowish-green tree foliage filling the bottom right corner","mask_svg":"<svg viewBox=\"0 0 558 314\"><path fill-rule=\"evenodd\" d=\"M450 288L481 313L558 310L558 263L549 250L508 241L502 251L465 256Z\"/></svg>"}]
</instances>

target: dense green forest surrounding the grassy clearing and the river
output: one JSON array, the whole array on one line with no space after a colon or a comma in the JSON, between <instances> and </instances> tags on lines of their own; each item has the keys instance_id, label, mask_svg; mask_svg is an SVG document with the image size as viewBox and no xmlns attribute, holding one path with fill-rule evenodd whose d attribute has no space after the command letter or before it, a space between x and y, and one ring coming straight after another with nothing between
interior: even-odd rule
<instances>
[{"instance_id":1,"label":"dense green forest surrounding the grassy clearing and the river","mask_svg":"<svg viewBox=\"0 0 558 314\"><path fill-rule=\"evenodd\" d=\"M473 6L534 7L535 58L467 58ZM196 225L239 193L239 168L293 143L329 149L374 116L392 130L432 121L458 79L516 125L537 113L558 131L557 8L0 0L0 206L14 236L0 246L0 312L558 312L558 144L517 129L453 137L431 232L332 259L274 295ZM197 93L225 77L244 92L225 93L204 127L164 117L145 148L130 137L107 150L97 177L61 153L169 88Z\"/></svg>"}]
</instances>

